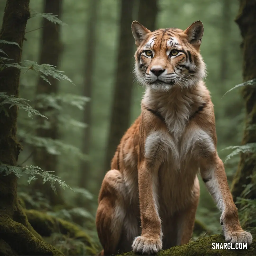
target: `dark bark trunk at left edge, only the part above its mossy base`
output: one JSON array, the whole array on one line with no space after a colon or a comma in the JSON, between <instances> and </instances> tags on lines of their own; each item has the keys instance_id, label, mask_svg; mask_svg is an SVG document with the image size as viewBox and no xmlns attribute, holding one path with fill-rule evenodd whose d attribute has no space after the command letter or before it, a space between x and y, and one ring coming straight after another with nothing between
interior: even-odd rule
<instances>
[{"instance_id":1,"label":"dark bark trunk at left edge, only the part above its mossy base","mask_svg":"<svg viewBox=\"0 0 256 256\"><path fill-rule=\"evenodd\" d=\"M25 36L25 28L29 13L29 0L15 0L6 2L3 24L0 32L0 39L17 42L22 48ZM13 62L20 62L22 49L16 45L1 44L0 48L13 59ZM0 72L0 90L18 96L19 94L19 75L17 68L7 68ZM0 112L0 162L9 165L16 165L19 151L22 146L16 139L17 130L17 107L8 109L9 117L4 111ZM0 198L1 208L5 207L5 214L13 218L16 211L17 202L17 177L12 175L1 176L0 179Z\"/></svg>"}]
</instances>

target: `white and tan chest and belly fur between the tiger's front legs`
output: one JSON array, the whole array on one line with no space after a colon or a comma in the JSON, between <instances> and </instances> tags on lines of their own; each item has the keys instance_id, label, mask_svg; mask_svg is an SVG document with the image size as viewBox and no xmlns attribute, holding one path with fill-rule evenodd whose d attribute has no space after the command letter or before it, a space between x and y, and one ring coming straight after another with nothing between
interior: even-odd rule
<instances>
[{"instance_id":1,"label":"white and tan chest and belly fur between the tiger's front legs","mask_svg":"<svg viewBox=\"0 0 256 256\"><path fill-rule=\"evenodd\" d=\"M149 165L156 165L158 169L156 194L159 196L160 217L171 216L193 200L195 190L199 189L199 158L214 152L215 146L209 131L200 127L193 118L185 117L188 121L165 120L161 113L146 110L154 115L153 120L164 123L147 132L144 156ZM177 115L182 116L182 113ZM174 126L176 128L172 130Z\"/></svg>"}]
</instances>

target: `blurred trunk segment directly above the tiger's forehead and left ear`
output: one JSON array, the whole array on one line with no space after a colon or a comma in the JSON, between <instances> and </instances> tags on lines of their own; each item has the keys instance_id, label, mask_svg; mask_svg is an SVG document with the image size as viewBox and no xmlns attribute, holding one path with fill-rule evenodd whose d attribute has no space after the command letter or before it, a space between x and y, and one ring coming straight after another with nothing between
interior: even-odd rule
<instances>
[{"instance_id":1,"label":"blurred trunk segment directly above the tiger's forehead and left ear","mask_svg":"<svg viewBox=\"0 0 256 256\"><path fill-rule=\"evenodd\" d=\"M139 0L138 22L150 31L156 29L157 0Z\"/></svg>"}]
</instances>

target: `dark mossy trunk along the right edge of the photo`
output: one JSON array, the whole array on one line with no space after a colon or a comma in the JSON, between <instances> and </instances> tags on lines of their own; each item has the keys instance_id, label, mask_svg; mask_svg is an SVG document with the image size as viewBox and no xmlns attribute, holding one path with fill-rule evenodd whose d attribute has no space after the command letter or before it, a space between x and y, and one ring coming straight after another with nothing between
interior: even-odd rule
<instances>
[{"instance_id":1,"label":"dark mossy trunk along the right edge of the photo","mask_svg":"<svg viewBox=\"0 0 256 256\"><path fill-rule=\"evenodd\" d=\"M243 42L243 81L256 78L256 2L255 0L240 0L240 9L236 18L239 25ZM256 86L245 86L242 89L243 99L246 104L245 129L242 145L256 142L255 129L248 129L256 124ZM238 165L237 173L232 182L232 194L234 200L239 197L244 190L243 185L252 183L251 178L247 178L255 172L256 159L252 153L242 153ZM248 194L248 198L254 199L255 194Z\"/></svg>"}]
</instances>

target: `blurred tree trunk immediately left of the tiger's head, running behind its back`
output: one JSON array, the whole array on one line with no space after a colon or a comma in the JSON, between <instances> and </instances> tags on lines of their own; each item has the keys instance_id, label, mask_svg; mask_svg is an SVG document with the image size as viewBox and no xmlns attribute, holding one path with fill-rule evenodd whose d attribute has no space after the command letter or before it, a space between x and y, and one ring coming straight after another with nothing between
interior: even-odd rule
<instances>
[{"instance_id":1,"label":"blurred tree trunk immediately left of the tiger's head, running behind its back","mask_svg":"<svg viewBox=\"0 0 256 256\"><path fill-rule=\"evenodd\" d=\"M132 56L134 39L131 32L134 0L121 1L120 34L114 86L113 105L111 109L110 128L106 147L104 171L109 170L120 139L129 126L132 96ZM104 174L103 174L104 175ZM99 176L101 182L102 175Z\"/></svg>"}]
</instances>

